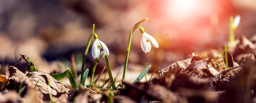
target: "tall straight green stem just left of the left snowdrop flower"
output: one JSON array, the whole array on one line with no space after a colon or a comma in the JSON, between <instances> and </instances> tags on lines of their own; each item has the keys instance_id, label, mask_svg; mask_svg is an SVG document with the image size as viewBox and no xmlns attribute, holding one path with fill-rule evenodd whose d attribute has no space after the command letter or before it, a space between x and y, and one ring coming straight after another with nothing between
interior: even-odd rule
<instances>
[{"instance_id":1,"label":"tall straight green stem just left of the left snowdrop flower","mask_svg":"<svg viewBox=\"0 0 256 103\"><path fill-rule=\"evenodd\" d=\"M86 57L87 57L87 54L88 54L88 50L89 50L89 47L90 47L90 44L91 44L91 41L92 41L92 35L93 35L93 32L95 30L95 24L92 25L92 33L88 39L88 43L87 43L87 47L86 47L86 50L85 50L85 54L83 56L83 64L82 64L82 69L81 69L81 78L80 78L80 84L83 84L83 71L84 71L84 66L85 66L85 60L86 60Z\"/></svg>"}]
</instances>

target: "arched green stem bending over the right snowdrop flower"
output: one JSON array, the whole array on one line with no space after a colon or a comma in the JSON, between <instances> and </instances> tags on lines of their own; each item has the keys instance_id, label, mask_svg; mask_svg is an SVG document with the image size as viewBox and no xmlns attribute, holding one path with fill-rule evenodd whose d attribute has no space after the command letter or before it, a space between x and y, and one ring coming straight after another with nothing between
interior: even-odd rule
<instances>
[{"instance_id":1,"label":"arched green stem bending over the right snowdrop flower","mask_svg":"<svg viewBox=\"0 0 256 103\"><path fill-rule=\"evenodd\" d=\"M130 36L129 36L129 40L128 40L128 45L127 45L127 50L126 50L126 59L124 62L124 73L123 73L123 79L125 78L125 73L126 73L126 69L127 69L127 64L128 64L128 58L129 58L129 53L130 53L130 46L131 46L131 41L132 41L132 33L134 30L136 30L136 28L139 27L139 25L141 23L143 23L144 21L147 21L148 18L142 19L141 21L137 22L131 29L130 31ZM122 89L124 89L124 84L122 84Z\"/></svg>"}]
</instances>

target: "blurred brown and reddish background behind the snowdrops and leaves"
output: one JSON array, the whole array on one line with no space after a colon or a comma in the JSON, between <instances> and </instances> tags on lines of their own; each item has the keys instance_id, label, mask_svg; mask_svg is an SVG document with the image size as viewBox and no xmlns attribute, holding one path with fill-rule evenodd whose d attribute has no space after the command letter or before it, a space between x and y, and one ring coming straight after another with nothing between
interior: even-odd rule
<instances>
[{"instance_id":1,"label":"blurred brown and reddish background behind the snowdrops and leaves","mask_svg":"<svg viewBox=\"0 0 256 103\"><path fill-rule=\"evenodd\" d=\"M112 69L122 69L130 29L148 17L141 26L159 48L145 54L141 34L135 30L128 69L141 72L147 63L152 64L152 72L189 58L192 52L222 49L229 39L229 17L236 15L241 16L236 39L242 34L253 36L256 0L0 0L0 64L14 65L23 54L39 71L57 73L66 68L60 62L71 61L75 54L81 71L95 24L99 40L110 50ZM92 69L93 62L89 49L85 68ZM104 66L101 61L97 68ZM26 69L26 63L19 67Z\"/></svg>"}]
</instances>

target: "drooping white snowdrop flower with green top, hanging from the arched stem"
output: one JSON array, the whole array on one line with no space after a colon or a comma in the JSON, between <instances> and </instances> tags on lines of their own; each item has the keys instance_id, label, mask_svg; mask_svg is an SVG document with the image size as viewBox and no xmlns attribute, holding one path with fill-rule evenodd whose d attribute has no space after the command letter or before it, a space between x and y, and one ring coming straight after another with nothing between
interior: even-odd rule
<instances>
[{"instance_id":1,"label":"drooping white snowdrop flower with green top, hanging from the arched stem","mask_svg":"<svg viewBox=\"0 0 256 103\"><path fill-rule=\"evenodd\" d=\"M139 26L139 30L140 30L140 32L142 34L141 41L140 41L140 46L141 46L142 50L144 51L144 53L147 53L147 52L149 52L151 50L150 41L152 42L152 44L156 48L159 47L157 41L153 38L153 36L151 36L148 33L146 33L144 28Z\"/></svg>"}]
</instances>

